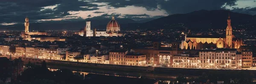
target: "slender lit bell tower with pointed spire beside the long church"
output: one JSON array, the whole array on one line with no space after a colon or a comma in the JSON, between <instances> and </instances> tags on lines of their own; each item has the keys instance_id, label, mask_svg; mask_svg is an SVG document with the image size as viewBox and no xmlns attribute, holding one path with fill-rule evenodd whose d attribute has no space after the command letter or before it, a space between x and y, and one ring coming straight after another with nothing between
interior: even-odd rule
<instances>
[{"instance_id":1,"label":"slender lit bell tower with pointed spire beside the long church","mask_svg":"<svg viewBox=\"0 0 256 84\"><path fill-rule=\"evenodd\" d=\"M227 29L226 29L226 47L232 48L232 27L231 27L231 19L230 14L228 14L227 19Z\"/></svg>"}]
</instances>

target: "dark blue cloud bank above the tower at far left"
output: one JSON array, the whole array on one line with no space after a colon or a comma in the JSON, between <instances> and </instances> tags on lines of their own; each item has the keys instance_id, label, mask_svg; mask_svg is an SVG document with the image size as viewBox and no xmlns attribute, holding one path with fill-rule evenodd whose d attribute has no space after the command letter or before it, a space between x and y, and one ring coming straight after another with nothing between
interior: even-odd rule
<instances>
[{"instance_id":1,"label":"dark blue cloud bank above the tower at far left","mask_svg":"<svg viewBox=\"0 0 256 84\"><path fill-rule=\"evenodd\" d=\"M57 5L53 9L43 7ZM4 0L0 1L0 23L24 22L26 16L30 22L40 19L57 19L71 15L68 11L97 10L98 5L81 0ZM79 18L79 17L77 17Z\"/></svg>"}]
</instances>

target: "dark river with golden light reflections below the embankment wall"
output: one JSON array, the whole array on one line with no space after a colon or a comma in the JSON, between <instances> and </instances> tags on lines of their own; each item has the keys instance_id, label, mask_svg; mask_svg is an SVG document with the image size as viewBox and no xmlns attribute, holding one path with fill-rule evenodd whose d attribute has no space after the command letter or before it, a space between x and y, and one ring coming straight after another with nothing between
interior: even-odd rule
<instances>
[{"instance_id":1,"label":"dark river with golden light reflections below the embankment wall","mask_svg":"<svg viewBox=\"0 0 256 84\"><path fill-rule=\"evenodd\" d=\"M99 69L90 69L90 68L75 68L70 66L59 66L59 65L47 65L48 69L51 71L55 71L58 69L70 69L78 76L86 77L87 74L101 74L101 75L109 75L109 76L122 76L122 77L131 77L131 78L140 78L144 77L147 79L157 79L164 82L174 81L177 75L166 75L166 74L155 74L155 73L143 73L143 72L128 72L128 71L110 71L110 70L99 70ZM196 77L196 76L194 76Z\"/></svg>"}]
</instances>

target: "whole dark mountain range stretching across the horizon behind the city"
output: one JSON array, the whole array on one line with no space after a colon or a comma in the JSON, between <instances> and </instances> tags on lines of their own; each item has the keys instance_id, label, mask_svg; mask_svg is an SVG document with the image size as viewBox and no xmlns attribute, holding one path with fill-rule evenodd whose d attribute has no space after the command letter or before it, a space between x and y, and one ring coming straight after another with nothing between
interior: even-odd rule
<instances>
[{"instance_id":1,"label":"whole dark mountain range stretching across the horizon behind the city","mask_svg":"<svg viewBox=\"0 0 256 84\"><path fill-rule=\"evenodd\" d=\"M140 29L190 29L209 30L225 29L227 27L227 17L230 14L233 29L256 30L256 15L234 13L226 10L200 10L187 14L173 14L158 19L145 19L134 21L133 19L116 19L121 30ZM84 21L59 21L31 23L30 30L79 30L84 28L85 22L91 21L91 27L105 29L111 19L86 19ZM0 26L0 30L24 30L24 24Z\"/></svg>"}]
</instances>

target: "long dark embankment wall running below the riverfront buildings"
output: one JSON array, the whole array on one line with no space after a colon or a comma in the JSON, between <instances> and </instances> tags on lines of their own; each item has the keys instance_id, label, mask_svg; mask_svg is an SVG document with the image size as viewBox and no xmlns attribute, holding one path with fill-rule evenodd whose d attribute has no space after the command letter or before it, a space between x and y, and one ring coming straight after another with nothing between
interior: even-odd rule
<instances>
[{"instance_id":1,"label":"long dark embankment wall running below the riverfront buildings","mask_svg":"<svg viewBox=\"0 0 256 84\"><path fill-rule=\"evenodd\" d=\"M43 60L32 59L32 58L21 58L25 64L29 61L35 64L41 64ZM153 74L168 74L177 75L179 73L186 74L187 76L200 76L203 72L209 73L210 71L244 71L256 74L256 70L214 70L214 69L192 69L192 68L164 68L164 67L146 67L146 66L127 66L127 65L109 65L109 64L96 64L96 63L86 63L86 62L70 62L70 61L60 61L60 60L45 60L47 65L58 65L70 68L77 68L78 70L83 68L90 69L101 69L101 70L113 70L113 71L132 71L132 72L143 72L143 73L153 73Z\"/></svg>"}]
</instances>

